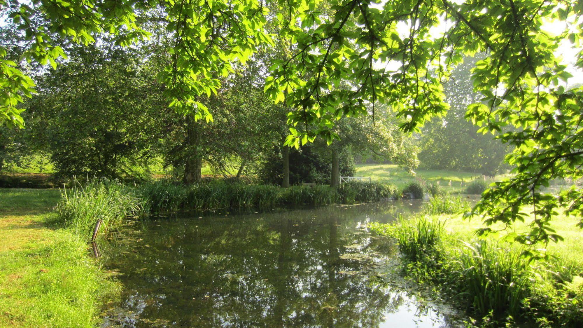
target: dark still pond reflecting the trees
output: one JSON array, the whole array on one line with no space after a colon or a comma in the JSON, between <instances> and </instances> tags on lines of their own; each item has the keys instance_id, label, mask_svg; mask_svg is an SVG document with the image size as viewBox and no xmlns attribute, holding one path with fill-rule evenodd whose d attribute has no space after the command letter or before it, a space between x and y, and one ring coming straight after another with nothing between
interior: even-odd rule
<instances>
[{"instance_id":1,"label":"dark still pond reflecting the trees","mask_svg":"<svg viewBox=\"0 0 583 328\"><path fill-rule=\"evenodd\" d=\"M124 285L103 326L454 327L447 306L384 276L395 245L366 229L419 207L404 200L136 224L115 246L101 245Z\"/></svg>"}]
</instances>

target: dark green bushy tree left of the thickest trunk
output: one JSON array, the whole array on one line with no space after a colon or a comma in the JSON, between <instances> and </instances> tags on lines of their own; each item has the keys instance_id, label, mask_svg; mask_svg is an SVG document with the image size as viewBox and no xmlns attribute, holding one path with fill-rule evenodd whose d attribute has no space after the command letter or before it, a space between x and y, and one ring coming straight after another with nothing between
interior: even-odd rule
<instances>
[{"instance_id":1,"label":"dark green bushy tree left of the thickest trunk","mask_svg":"<svg viewBox=\"0 0 583 328\"><path fill-rule=\"evenodd\" d=\"M164 102L140 59L132 50L73 47L65 64L38 76L29 142L50 153L57 175L139 176L147 168Z\"/></svg>"}]
</instances>

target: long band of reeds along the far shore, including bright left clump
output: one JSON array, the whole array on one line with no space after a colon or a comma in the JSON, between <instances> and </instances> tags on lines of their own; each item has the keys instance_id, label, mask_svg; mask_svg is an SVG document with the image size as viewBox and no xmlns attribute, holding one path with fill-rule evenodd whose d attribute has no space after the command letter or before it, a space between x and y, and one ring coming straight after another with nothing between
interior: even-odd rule
<instances>
[{"instance_id":1,"label":"long band of reeds along the far shore, including bright left clump","mask_svg":"<svg viewBox=\"0 0 583 328\"><path fill-rule=\"evenodd\" d=\"M270 210L286 205L352 204L399 197L395 186L349 182L328 186L278 186L215 181L187 186L170 180L138 185L107 179L76 183L65 189L55 219L78 236L88 238L96 222L100 229L118 226L128 217L177 211Z\"/></svg>"}]
</instances>

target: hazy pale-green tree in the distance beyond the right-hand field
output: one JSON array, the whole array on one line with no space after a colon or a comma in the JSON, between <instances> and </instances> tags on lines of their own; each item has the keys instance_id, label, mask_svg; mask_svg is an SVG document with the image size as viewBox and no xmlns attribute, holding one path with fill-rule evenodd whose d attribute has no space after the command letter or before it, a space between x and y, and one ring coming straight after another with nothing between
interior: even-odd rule
<instances>
[{"instance_id":1,"label":"hazy pale-green tree in the distance beyond the right-hand field","mask_svg":"<svg viewBox=\"0 0 583 328\"><path fill-rule=\"evenodd\" d=\"M462 170L495 176L505 169L504 156L509 151L491 134L478 133L478 127L465 118L467 107L480 102L472 92L470 69L479 58L465 58L444 83L445 99L450 110L423 127L420 136L419 160L430 169Z\"/></svg>"}]
</instances>

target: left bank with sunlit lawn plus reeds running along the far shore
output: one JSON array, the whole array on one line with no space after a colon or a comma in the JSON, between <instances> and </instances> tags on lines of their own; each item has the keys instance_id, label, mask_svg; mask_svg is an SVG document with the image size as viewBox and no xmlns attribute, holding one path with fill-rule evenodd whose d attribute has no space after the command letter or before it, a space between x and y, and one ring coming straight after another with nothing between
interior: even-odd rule
<instances>
[{"instance_id":1,"label":"left bank with sunlit lawn plus reeds running along the far shore","mask_svg":"<svg viewBox=\"0 0 583 328\"><path fill-rule=\"evenodd\" d=\"M141 186L93 180L66 190L0 189L0 326L92 326L120 292L112 273L92 259L87 240L98 219L114 229L132 216L184 210L270 210L282 204L321 205L397 197L384 184L282 189L216 183Z\"/></svg>"}]
</instances>

